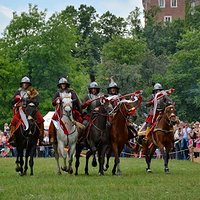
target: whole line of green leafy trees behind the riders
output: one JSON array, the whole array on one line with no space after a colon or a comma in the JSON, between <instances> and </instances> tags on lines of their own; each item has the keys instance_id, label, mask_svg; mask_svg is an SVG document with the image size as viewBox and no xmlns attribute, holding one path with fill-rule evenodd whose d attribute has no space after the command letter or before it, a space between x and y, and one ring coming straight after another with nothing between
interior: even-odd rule
<instances>
[{"instance_id":1,"label":"whole line of green leafy trees behind the riders","mask_svg":"<svg viewBox=\"0 0 200 200\"><path fill-rule=\"evenodd\" d=\"M193 8L194 9L194 8ZM68 77L80 99L90 80L106 93L113 76L120 92L143 89L144 100L153 83L175 88L172 99L180 119L200 120L200 8L188 6L185 20L157 23L158 8L145 13L135 8L127 18L94 7L67 6L47 19L47 10L29 4L29 10L13 13L0 38L0 123L12 116L11 98L25 75L40 92L40 110L52 110L58 79ZM138 123L144 120L144 105Z\"/></svg>"}]
</instances>

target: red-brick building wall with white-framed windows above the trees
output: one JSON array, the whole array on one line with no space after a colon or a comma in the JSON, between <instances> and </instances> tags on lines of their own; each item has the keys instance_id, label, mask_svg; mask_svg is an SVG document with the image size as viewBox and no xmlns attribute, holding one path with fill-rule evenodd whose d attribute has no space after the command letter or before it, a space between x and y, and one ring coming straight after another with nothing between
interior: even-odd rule
<instances>
[{"instance_id":1,"label":"red-brick building wall with white-framed windows above the trees","mask_svg":"<svg viewBox=\"0 0 200 200\"><path fill-rule=\"evenodd\" d=\"M172 21L185 18L185 0L143 0L144 11L158 7L156 21Z\"/></svg>"}]
</instances>

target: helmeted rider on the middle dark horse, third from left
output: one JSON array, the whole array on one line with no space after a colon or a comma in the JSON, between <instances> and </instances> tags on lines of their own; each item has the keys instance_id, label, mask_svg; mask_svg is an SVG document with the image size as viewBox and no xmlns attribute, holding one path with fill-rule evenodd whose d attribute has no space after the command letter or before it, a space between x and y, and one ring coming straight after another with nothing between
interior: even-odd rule
<instances>
[{"instance_id":1,"label":"helmeted rider on the middle dark horse, third from left","mask_svg":"<svg viewBox=\"0 0 200 200\"><path fill-rule=\"evenodd\" d=\"M88 86L88 94L85 96L82 103L82 108L86 109L86 114L83 117L83 125L86 126L88 124L92 111L100 105L98 98L101 95L98 83L95 81L91 82Z\"/></svg>"}]
</instances>

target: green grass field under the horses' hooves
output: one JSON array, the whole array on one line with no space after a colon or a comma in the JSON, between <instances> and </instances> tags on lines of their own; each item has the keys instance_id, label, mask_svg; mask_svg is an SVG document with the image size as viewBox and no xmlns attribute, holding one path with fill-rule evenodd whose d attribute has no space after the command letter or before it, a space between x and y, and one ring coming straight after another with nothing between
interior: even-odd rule
<instances>
[{"instance_id":1,"label":"green grass field under the horses' hooves","mask_svg":"<svg viewBox=\"0 0 200 200\"><path fill-rule=\"evenodd\" d=\"M91 165L90 175L85 176L84 164L82 158L79 176L57 175L53 158L36 158L34 176L20 177L14 158L0 158L0 200L200 199L198 163L170 160L170 174L165 174L163 161L153 160L153 173L147 174L144 159L122 158L120 177L111 175L111 167L105 176L98 176Z\"/></svg>"}]
</instances>

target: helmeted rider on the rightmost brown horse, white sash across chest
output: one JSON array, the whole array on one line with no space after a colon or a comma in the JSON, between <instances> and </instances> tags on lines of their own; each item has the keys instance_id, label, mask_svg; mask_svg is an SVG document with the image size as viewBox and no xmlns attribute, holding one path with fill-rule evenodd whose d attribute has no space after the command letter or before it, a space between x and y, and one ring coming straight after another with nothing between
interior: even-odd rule
<instances>
[{"instance_id":1,"label":"helmeted rider on the rightmost brown horse, white sash across chest","mask_svg":"<svg viewBox=\"0 0 200 200\"><path fill-rule=\"evenodd\" d=\"M152 124L159 120L162 111L165 109L166 106L173 104L172 100L169 98L166 92L162 92L163 88L160 83L156 83L153 87L153 93L151 99L146 103L147 107L153 106L146 118L146 135L145 140L148 139Z\"/></svg>"}]
</instances>

